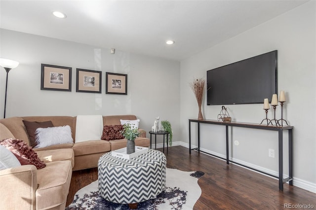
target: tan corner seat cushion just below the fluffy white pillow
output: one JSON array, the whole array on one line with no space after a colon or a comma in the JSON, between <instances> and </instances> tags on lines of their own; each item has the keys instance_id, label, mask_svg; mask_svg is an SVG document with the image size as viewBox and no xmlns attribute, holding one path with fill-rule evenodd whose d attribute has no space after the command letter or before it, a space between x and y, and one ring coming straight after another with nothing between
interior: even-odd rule
<instances>
[{"instance_id":1,"label":"tan corner seat cushion just below the fluffy white pillow","mask_svg":"<svg viewBox=\"0 0 316 210\"><path fill-rule=\"evenodd\" d=\"M73 149L51 149L37 151L38 157L44 163L60 161L60 160L70 160L72 166L75 165L75 153Z\"/></svg>"}]
</instances>

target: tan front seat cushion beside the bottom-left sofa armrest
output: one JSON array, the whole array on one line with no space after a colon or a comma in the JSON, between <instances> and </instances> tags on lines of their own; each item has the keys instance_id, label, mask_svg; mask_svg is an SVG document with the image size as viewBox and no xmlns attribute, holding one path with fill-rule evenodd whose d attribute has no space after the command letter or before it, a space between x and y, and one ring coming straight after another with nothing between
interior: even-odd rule
<instances>
[{"instance_id":1,"label":"tan front seat cushion beside the bottom-left sofa armrest","mask_svg":"<svg viewBox=\"0 0 316 210\"><path fill-rule=\"evenodd\" d=\"M38 170L37 176L36 209L65 207L72 176L71 161L49 162L45 168Z\"/></svg>"}]
</instances>

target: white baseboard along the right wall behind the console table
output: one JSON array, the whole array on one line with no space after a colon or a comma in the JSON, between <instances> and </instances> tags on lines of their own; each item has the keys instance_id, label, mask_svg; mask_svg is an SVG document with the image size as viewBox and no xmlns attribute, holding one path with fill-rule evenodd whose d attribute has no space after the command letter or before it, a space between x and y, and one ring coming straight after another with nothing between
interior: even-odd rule
<instances>
[{"instance_id":1,"label":"white baseboard along the right wall behind the console table","mask_svg":"<svg viewBox=\"0 0 316 210\"><path fill-rule=\"evenodd\" d=\"M182 142L182 141L178 141L177 143L178 143L180 146L184 146L184 147L189 148L189 144L188 144L188 143L185 143L185 142ZM162 145L162 144L161 144L161 145ZM176 145L174 145L174 146L176 146ZM196 147L197 147L197 146L195 146L195 145L191 145L191 148L196 148ZM216 152L213 152L213 151L204 149L204 148L200 148L200 151L202 151L202 152L207 152L207 153L213 154L213 155L215 155L215 156L218 156L218 157L220 157L220 158L218 158L218 159L220 159L220 160L223 160L223 159L221 159L221 158L226 159L226 155L223 155L223 154L220 154L220 153L216 153ZM188 152L189 152L189 151L188 151ZM206 154L206 155L207 155L207 154ZM215 158L216 158L216 157L215 157ZM244 165L244 166L246 166L246 167L250 167L250 168L253 168L253 169L255 169L255 170L261 171L261 172L263 172L263 173L260 173L260 172L258 172L258 171L251 170L251 169L249 169L249 168L246 168L246 167L243 167L243 166L238 165L238 166L240 166L240 167L242 167L242 168L245 168L245 169L247 169L247 170L254 171L254 172L259 173L259 174L262 174L262 175L266 175L266 174L264 174L264 173L267 173L267 174L270 174L270 175L278 176L278 172L276 172L276 171L273 171L273 170L270 170L270 169L266 169L266 168L263 168L263 167L260 167L260 166L257 166L257 165L251 164L251 163L247 163L247 162L238 160L238 159L236 159L236 158L231 158L231 157L230 157L230 160L231 160L231 161L234 161L234 162L236 162L236 163L238 163L238 164ZM225 160L223 160L223 161L225 161ZM234 164L234 163L232 163L232 164ZM269 175L266 175L266 176L269 176ZM288 177L288 175L286 175L286 174L284 174L283 176L284 176L284 178ZM277 179L276 177L273 177L273 176L269 176L269 177L272 177L272 178ZM315 184L315 183L312 183L312 182L309 182L309 181L305 181L305 180L300 179L300 178L293 177L293 185L296 186L296 187L299 187L299 188L308 190L308 191L310 191L310 192L316 193L316 184Z\"/></svg>"}]
</instances>

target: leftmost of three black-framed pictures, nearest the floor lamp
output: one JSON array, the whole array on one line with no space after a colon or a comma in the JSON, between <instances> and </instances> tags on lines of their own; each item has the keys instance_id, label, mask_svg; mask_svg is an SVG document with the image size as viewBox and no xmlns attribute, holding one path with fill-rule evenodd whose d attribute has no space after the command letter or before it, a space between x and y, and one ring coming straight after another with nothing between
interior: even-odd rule
<instances>
[{"instance_id":1,"label":"leftmost of three black-framed pictures, nearest the floor lamp","mask_svg":"<svg viewBox=\"0 0 316 210\"><path fill-rule=\"evenodd\" d=\"M41 90L71 91L71 67L41 64Z\"/></svg>"}]
</instances>

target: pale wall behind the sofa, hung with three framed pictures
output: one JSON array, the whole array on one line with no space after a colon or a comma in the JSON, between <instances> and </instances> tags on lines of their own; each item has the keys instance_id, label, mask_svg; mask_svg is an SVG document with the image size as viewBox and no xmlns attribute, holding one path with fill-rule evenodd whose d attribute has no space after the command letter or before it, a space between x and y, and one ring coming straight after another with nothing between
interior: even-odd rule
<instances>
[{"instance_id":1,"label":"pale wall behind the sofa, hung with three framed pictures","mask_svg":"<svg viewBox=\"0 0 316 210\"><path fill-rule=\"evenodd\" d=\"M169 120L179 139L180 63L76 42L0 31L0 57L20 65L9 72L6 118L12 116L135 114L150 131L155 118ZM72 92L40 90L40 65L72 67ZM76 92L76 68L102 71L102 94ZM105 72L125 73L127 95L105 94ZM5 70L0 70L3 117ZM149 136L149 134L147 134ZM158 138L158 143L162 142Z\"/></svg>"}]
</instances>

